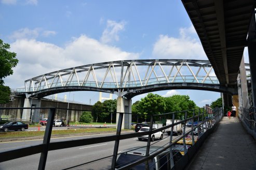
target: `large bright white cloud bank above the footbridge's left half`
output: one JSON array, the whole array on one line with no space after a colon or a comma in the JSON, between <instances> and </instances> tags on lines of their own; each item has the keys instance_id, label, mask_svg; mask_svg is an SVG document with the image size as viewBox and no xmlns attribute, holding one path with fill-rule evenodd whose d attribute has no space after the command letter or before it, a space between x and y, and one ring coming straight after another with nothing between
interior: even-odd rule
<instances>
[{"instance_id":1,"label":"large bright white cloud bank above the footbridge's left half","mask_svg":"<svg viewBox=\"0 0 256 170\"><path fill-rule=\"evenodd\" d=\"M105 61L139 58L138 53L122 51L85 35L73 38L64 48L35 39L18 39L10 46L10 51L16 52L19 59L14 74L4 80L5 85L12 88L23 87L25 80L51 71Z\"/></svg>"}]
</instances>

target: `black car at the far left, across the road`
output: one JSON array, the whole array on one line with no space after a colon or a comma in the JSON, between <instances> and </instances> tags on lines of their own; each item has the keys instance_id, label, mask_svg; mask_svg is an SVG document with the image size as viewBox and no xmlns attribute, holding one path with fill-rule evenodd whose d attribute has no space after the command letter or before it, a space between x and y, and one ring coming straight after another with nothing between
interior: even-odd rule
<instances>
[{"instance_id":1,"label":"black car at the far left, across the road","mask_svg":"<svg viewBox=\"0 0 256 170\"><path fill-rule=\"evenodd\" d=\"M4 125L0 125L0 131L8 132L9 130L21 130L29 129L29 125L21 121L8 121Z\"/></svg>"}]
</instances>

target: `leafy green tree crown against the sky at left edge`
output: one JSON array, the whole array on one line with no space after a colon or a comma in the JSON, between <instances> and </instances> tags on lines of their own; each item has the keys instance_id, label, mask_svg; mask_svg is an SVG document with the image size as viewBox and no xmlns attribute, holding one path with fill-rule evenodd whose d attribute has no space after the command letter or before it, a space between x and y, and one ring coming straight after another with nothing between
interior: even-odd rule
<instances>
[{"instance_id":1,"label":"leafy green tree crown against the sky at left edge","mask_svg":"<svg viewBox=\"0 0 256 170\"><path fill-rule=\"evenodd\" d=\"M10 45L0 39L0 85L4 85L3 78L14 73L12 68L16 67L19 61L16 58L16 53L9 52L8 49L10 49Z\"/></svg>"}]
</instances>

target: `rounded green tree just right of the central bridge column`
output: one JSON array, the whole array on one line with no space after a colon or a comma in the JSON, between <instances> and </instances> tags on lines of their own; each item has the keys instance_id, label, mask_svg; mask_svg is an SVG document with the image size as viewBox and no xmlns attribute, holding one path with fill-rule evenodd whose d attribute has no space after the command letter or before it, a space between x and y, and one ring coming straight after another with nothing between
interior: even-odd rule
<instances>
[{"instance_id":1,"label":"rounded green tree just right of the central bridge column","mask_svg":"<svg viewBox=\"0 0 256 170\"><path fill-rule=\"evenodd\" d=\"M147 114L163 114L165 113L166 109L164 97L150 93L146 97L141 99L138 109L140 113L144 114L145 118Z\"/></svg>"}]
</instances>

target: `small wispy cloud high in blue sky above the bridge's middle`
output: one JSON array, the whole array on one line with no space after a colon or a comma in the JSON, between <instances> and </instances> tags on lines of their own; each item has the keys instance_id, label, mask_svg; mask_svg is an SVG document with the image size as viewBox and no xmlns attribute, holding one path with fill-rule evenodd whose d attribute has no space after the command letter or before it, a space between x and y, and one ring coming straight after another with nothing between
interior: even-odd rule
<instances>
[{"instance_id":1,"label":"small wispy cloud high in blue sky above the bridge's middle","mask_svg":"<svg viewBox=\"0 0 256 170\"><path fill-rule=\"evenodd\" d=\"M126 22L115 22L111 20L107 20L107 26L104 29L102 36L101 36L101 42L102 43L108 43L112 41L119 41L119 35L118 33L121 30L124 30Z\"/></svg>"}]
</instances>

